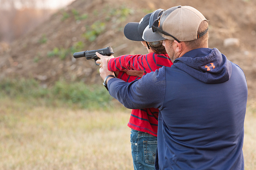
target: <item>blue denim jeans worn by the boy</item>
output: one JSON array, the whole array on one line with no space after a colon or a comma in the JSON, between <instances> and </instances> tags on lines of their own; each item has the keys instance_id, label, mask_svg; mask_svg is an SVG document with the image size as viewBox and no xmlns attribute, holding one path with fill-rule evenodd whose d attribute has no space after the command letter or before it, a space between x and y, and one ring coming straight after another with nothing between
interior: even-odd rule
<instances>
[{"instance_id":1,"label":"blue denim jeans worn by the boy","mask_svg":"<svg viewBox=\"0 0 256 170\"><path fill-rule=\"evenodd\" d=\"M155 170L157 137L132 129L131 145L134 170Z\"/></svg>"}]
</instances>

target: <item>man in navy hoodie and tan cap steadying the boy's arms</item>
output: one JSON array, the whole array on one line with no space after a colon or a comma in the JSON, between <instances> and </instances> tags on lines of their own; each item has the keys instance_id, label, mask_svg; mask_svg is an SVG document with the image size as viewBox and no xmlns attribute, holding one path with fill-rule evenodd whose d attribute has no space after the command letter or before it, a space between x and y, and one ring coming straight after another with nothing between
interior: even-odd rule
<instances>
[{"instance_id":1,"label":"man in navy hoodie and tan cap steadying the boy's arms","mask_svg":"<svg viewBox=\"0 0 256 170\"><path fill-rule=\"evenodd\" d=\"M205 17L190 6L173 7L143 37L163 40L173 65L126 83L111 77L102 59L100 74L125 107L159 109L155 168L243 170L246 78L217 48L208 48Z\"/></svg>"}]
</instances>

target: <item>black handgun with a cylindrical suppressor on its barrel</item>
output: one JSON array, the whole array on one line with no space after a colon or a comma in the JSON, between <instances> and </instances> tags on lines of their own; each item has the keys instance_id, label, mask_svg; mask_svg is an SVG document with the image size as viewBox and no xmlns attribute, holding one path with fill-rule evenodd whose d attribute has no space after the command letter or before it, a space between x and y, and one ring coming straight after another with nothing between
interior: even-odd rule
<instances>
[{"instance_id":1,"label":"black handgun with a cylindrical suppressor on its barrel","mask_svg":"<svg viewBox=\"0 0 256 170\"><path fill-rule=\"evenodd\" d=\"M110 55L114 54L113 49L111 48L111 46L108 46L106 48L101 48L101 49L96 49L96 50L90 50L90 51L86 50L86 51L81 51L81 52L75 52L73 54L73 56L75 58L86 57L87 60L94 59L95 64L100 65L100 64L96 63L96 61L98 59L100 59L95 54L96 52L100 53L101 55L107 55L107 56L110 56Z\"/></svg>"}]
</instances>

